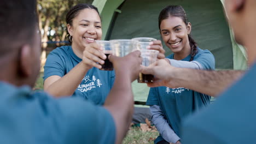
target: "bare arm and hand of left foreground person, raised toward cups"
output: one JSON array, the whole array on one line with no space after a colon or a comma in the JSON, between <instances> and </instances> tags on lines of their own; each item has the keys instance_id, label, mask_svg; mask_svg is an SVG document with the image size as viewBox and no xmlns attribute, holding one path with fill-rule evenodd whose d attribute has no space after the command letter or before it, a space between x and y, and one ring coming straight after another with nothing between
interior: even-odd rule
<instances>
[{"instance_id":1,"label":"bare arm and hand of left foreground person, raised toward cups","mask_svg":"<svg viewBox=\"0 0 256 144\"><path fill-rule=\"evenodd\" d=\"M110 55L109 61L115 70L115 82L104 107L112 114L117 130L115 143L121 143L132 120L133 94L131 82L137 79L142 59L140 52L132 52L125 57Z\"/></svg>"}]
</instances>

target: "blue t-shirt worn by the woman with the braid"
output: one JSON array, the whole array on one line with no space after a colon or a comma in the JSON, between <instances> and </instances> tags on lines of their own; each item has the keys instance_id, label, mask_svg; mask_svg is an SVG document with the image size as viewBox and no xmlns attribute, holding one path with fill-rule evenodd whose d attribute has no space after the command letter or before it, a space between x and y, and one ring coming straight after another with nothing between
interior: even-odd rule
<instances>
[{"instance_id":1,"label":"blue t-shirt worn by the woman with the braid","mask_svg":"<svg viewBox=\"0 0 256 144\"><path fill-rule=\"evenodd\" d=\"M167 58L173 59L173 53ZM181 61L189 61L191 56L187 56ZM193 61L199 62L204 69L214 69L215 60L212 53L208 50L201 50L197 47L197 53ZM188 116L195 110L199 110L210 104L211 97L192 91L188 88L168 88L168 87L155 87L150 88L147 105L159 105L162 112L166 116L166 120L173 131L181 136L180 126L184 117ZM159 136L155 143L164 140Z\"/></svg>"}]
</instances>

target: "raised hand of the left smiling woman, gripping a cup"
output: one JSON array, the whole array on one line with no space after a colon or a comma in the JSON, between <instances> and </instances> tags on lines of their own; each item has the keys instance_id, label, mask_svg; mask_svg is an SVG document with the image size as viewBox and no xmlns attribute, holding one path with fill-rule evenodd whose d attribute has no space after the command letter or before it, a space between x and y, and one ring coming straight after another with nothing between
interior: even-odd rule
<instances>
[{"instance_id":1,"label":"raised hand of the left smiling woman, gripping a cup","mask_svg":"<svg viewBox=\"0 0 256 144\"><path fill-rule=\"evenodd\" d=\"M85 46L83 52L83 63L89 68L96 67L101 69L100 64L104 64L103 59L106 59L106 55L102 52L101 46L96 43L90 43Z\"/></svg>"}]
</instances>

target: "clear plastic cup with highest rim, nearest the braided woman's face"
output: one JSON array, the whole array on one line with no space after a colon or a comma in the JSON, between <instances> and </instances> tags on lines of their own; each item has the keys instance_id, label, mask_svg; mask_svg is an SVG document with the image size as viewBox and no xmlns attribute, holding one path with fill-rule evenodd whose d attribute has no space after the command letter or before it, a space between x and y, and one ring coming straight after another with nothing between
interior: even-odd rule
<instances>
[{"instance_id":1,"label":"clear plastic cup with highest rim, nearest the braided woman's face","mask_svg":"<svg viewBox=\"0 0 256 144\"><path fill-rule=\"evenodd\" d=\"M135 46L137 50L147 50L147 47L149 46L150 42L156 40L154 38L147 38L147 37L139 37L139 38L133 38L132 40L137 41L135 42Z\"/></svg>"}]
</instances>

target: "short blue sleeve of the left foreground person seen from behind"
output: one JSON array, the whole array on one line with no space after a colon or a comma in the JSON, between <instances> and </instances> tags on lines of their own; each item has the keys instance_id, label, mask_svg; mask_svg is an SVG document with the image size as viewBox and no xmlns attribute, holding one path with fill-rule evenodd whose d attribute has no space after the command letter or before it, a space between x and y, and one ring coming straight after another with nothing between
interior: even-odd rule
<instances>
[{"instance_id":1,"label":"short blue sleeve of the left foreground person seen from behind","mask_svg":"<svg viewBox=\"0 0 256 144\"><path fill-rule=\"evenodd\" d=\"M107 109L75 98L60 100L59 105L65 118L65 143L115 143L115 123Z\"/></svg>"}]
</instances>

